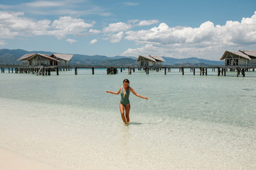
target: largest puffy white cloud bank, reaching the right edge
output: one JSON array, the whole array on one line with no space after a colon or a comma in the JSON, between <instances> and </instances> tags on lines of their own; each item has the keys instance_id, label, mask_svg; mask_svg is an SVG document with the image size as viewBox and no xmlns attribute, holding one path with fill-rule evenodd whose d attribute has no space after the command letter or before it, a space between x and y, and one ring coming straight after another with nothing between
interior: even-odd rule
<instances>
[{"instance_id":1,"label":"largest puffy white cloud bank, reaching the right edge","mask_svg":"<svg viewBox=\"0 0 256 170\"><path fill-rule=\"evenodd\" d=\"M123 55L149 53L175 57L201 56L218 60L220 51L256 44L256 12L251 18L242 18L240 22L227 21L224 26L215 26L210 21L202 23L198 28L169 27L166 23L160 23L158 27L149 30L129 30L124 38L143 46L129 48Z\"/></svg>"}]
</instances>

